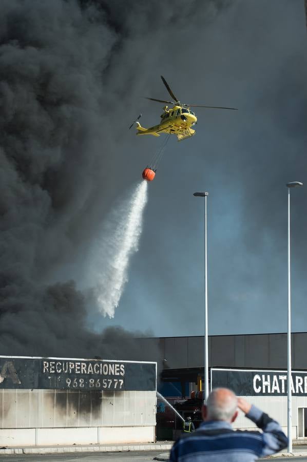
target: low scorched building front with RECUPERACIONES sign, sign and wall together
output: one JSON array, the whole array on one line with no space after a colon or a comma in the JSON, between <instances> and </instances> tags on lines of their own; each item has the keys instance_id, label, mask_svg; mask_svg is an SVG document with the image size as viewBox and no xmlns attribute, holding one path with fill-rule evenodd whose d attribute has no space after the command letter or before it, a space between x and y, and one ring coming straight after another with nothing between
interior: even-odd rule
<instances>
[{"instance_id":1,"label":"low scorched building front with RECUPERACIONES sign, sign and wall together","mask_svg":"<svg viewBox=\"0 0 307 462\"><path fill-rule=\"evenodd\" d=\"M0 446L155 441L157 363L0 356Z\"/></svg>"}]
</instances>

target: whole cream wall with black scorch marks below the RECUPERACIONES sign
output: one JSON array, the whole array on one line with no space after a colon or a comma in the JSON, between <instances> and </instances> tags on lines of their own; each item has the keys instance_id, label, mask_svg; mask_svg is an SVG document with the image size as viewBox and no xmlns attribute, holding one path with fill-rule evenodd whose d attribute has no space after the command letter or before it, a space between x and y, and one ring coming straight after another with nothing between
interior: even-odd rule
<instances>
[{"instance_id":1,"label":"whole cream wall with black scorch marks below the RECUPERACIONES sign","mask_svg":"<svg viewBox=\"0 0 307 462\"><path fill-rule=\"evenodd\" d=\"M156 391L0 390L0 446L155 440Z\"/></svg>"}]
</instances>

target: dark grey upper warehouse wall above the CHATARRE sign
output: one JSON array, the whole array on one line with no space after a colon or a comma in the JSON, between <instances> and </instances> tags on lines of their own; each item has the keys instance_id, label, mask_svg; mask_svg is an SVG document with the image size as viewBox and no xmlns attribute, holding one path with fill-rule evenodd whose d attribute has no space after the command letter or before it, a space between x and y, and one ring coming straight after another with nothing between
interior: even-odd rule
<instances>
[{"instance_id":1,"label":"dark grey upper warehouse wall above the CHATARRE sign","mask_svg":"<svg viewBox=\"0 0 307 462\"><path fill-rule=\"evenodd\" d=\"M307 369L307 333L292 334L292 367ZM142 348L160 348L163 369L199 368L204 363L204 337L139 339ZM286 334L215 335L208 338L210 367L284 369Z\"/></svg>"}]
</instances>

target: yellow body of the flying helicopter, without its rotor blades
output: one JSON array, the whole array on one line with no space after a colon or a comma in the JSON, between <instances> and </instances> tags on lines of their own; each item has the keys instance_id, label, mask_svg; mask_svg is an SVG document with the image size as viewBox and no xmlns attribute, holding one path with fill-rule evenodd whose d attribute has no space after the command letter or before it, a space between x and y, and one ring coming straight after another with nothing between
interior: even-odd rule
<instances>
[{"instance_id":1,"label":"yellow body of the flying helicopter, without its rotor blades","mask_svg":"<svg viewBox=\"0 0 307 462\"><path fill-rule=\"evenodd\" d=\"M178 141L190 138L194 135L193 127L197 123L195 113L182 106L174 106L170 109L164 106L164 112L161 114L161 122L154 127L144 128L137 122L137 134L151 134L159 137L160 133L176 134Z\"/></svg>"}]
</instances>

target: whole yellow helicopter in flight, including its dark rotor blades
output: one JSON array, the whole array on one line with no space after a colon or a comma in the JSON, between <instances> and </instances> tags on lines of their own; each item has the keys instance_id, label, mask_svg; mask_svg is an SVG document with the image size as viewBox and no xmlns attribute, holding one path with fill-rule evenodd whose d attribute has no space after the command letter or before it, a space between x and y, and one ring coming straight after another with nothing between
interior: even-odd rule
<instances>
[{"instance_id":1,"label":"whole yellow helicopter in flight, including its dark rotor blades","mask_svg":"<svg viewBox=\"0 0 307 462\"><path fill-rule=\"evenodd\" d=\"M145 135L151 134L154 137L159 137L160 133L169 133L169 134L176 134L178 141L185 140L186 138L193 137L195 134L195 130L193 127L197 123L197 117L195 112L190 110L190 107L206 107L210 109L232 109L238 110L235 107L217 107L217 106L201 106L199 104L182 104L176 98L175 94L171 91L168 83L161 75L162 82L164 83L168 93L170 94L171 98L174 101L164 101L164 100L157 100L155 98L146 98L147 100L151 101L158 101L158 103L168 103L173 104L174 106L168 109L168 106L164 106L163 114L161 114L161 122L154 127L144 128L139 123L139 119L141 118L142 114L133 121L130 125L129 129L133 126L133 124L137 124L137 135Z\"/></svg>"}]
</instances>

